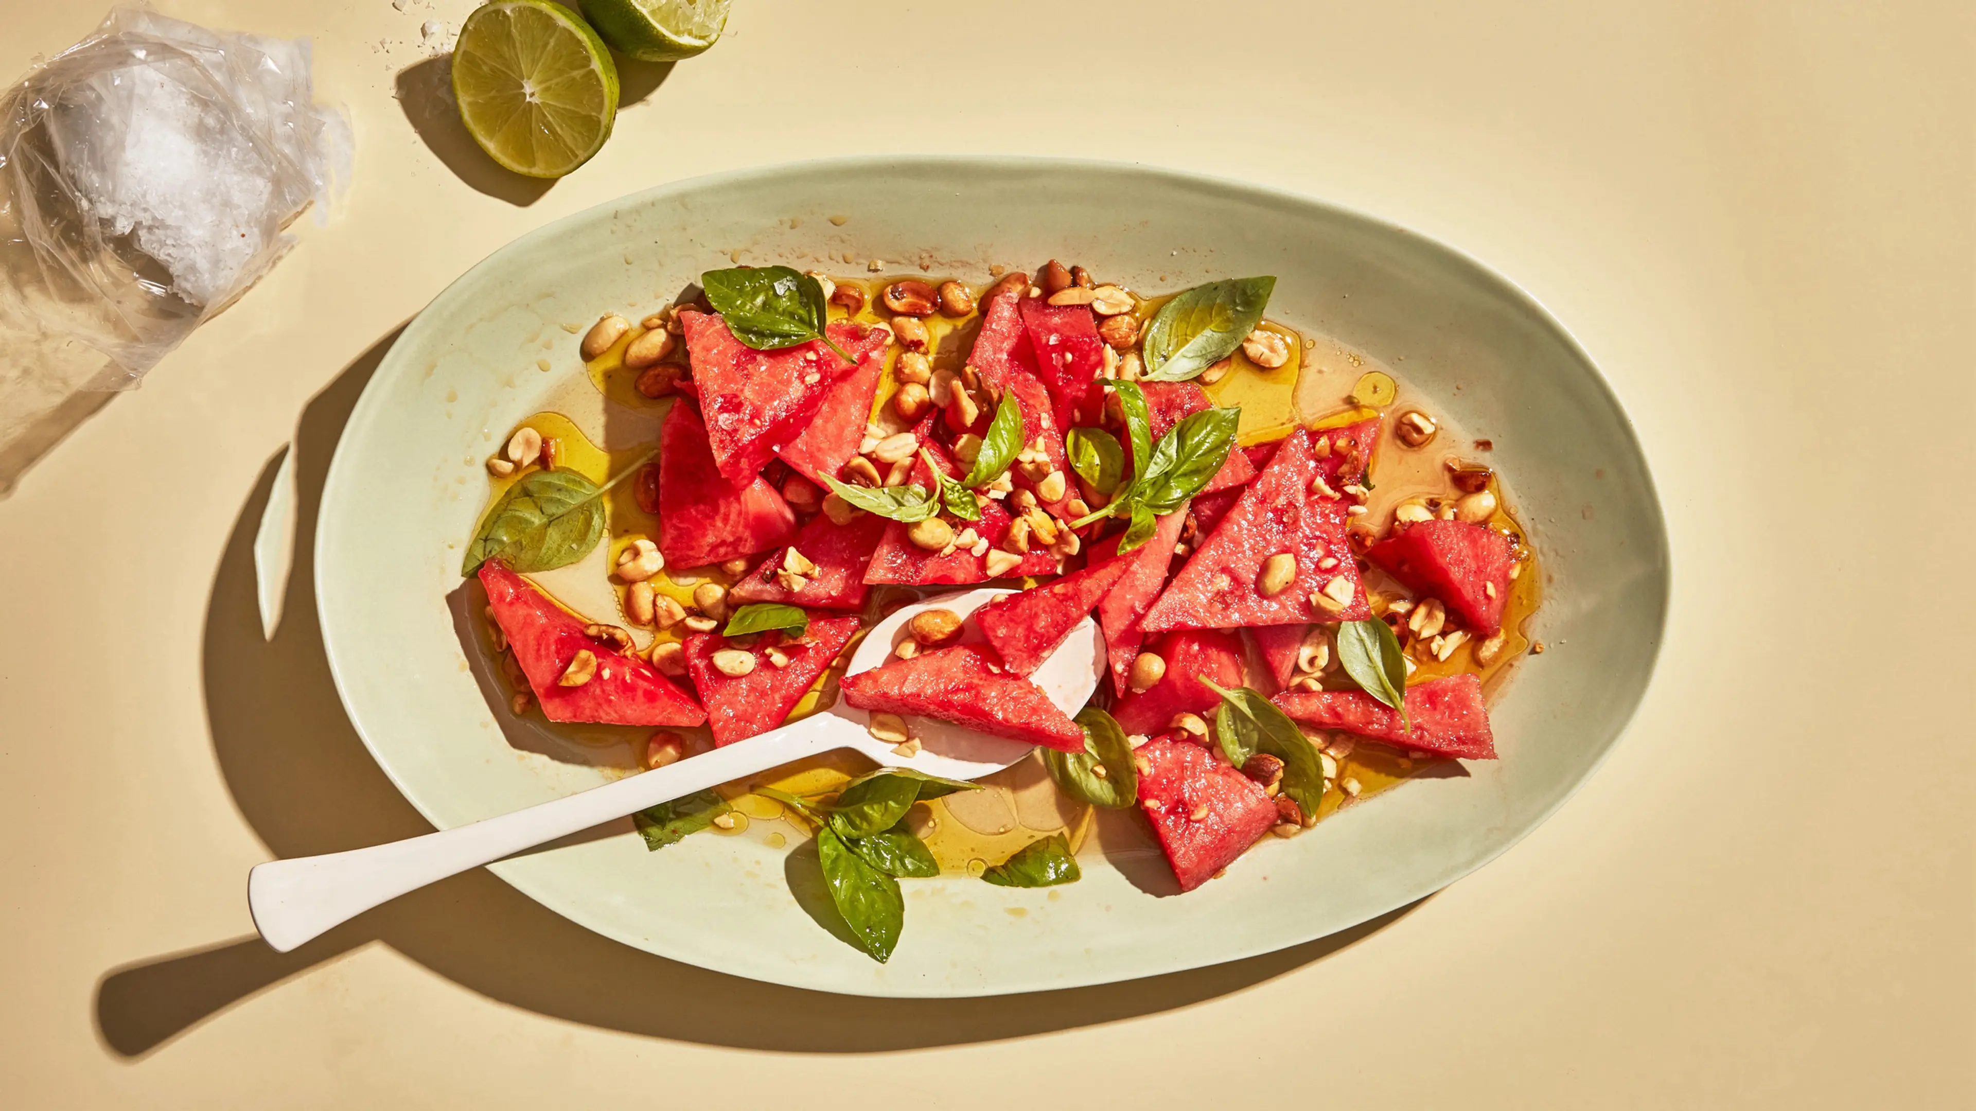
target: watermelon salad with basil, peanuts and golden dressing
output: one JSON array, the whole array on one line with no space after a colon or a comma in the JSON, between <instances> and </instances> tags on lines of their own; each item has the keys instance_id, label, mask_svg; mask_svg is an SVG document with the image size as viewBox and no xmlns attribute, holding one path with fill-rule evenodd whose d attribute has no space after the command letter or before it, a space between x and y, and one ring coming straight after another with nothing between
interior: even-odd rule
<instances>
[{"instance_id":1,"label":"watermelon salad with basil, peanuts and golden dressing","mask_svg":"<svg viewBox=\"0 0 1976 1111\"><path fill-rule=\"evenodd\" d=\"M1049 775L1028 781L1055 797L1010 795L1014 828L974 797L1014 793L1014 769L848 763L638 816L652 848L781 820L818 838L834 896L1069 882L1103 809L1194 892L1435 763L1514 755L1488 702L1543 650L1539 575L1494 445L1371 356L1267 320L1273 293L1150 297L1057 261L980 285L771 265L603 316L585 370L646 435L541 413L488 459L462 573L506 710L640 767L840 698L901 757L925 720L1037 745ZM978 583L1008 593L921 613L844 674L885 615ZM1065 712L1028 676L1087 619L1105 678ZM889 957L885 899L838 905Z\"/></svg>"}]
</instances>

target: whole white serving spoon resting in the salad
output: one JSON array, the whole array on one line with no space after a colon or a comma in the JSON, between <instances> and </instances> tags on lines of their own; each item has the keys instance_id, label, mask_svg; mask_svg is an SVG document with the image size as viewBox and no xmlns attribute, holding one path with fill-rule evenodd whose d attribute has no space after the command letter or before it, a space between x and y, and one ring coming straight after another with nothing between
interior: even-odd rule
<instances>
[{"instance_id":1,"label":"whole white serving spoon resting in the salad","mask_svg":"<svg viewBox=\"0 0 1976 1111\"><path fill-rule=\"evenodd\" d=\"M899 609L879 621L858 644L850 672L864 672L885 662L899 629L915 613L950 609L968 617L1000 593L1008 591L988 587L931 597ZM968 625L964 641L980 641L980 633ZM1063 646L1029 680L1041 686L1065 714L1075 714L1091 698L1103 672L1105 639L1087 617L1071 629ZM881 767L911 767L947 779L980 779L1029 755L1031 747L962 726L915 718L911 722L913 735L923 747L919 753L903 757L893 751L893 745L867 731L869 722L871 718L864 710L852 710L844 700L838 700L822 714L812 714L759 737L498 818L371 848L271 860L247 872L247 907L253 911L261 937L277 951L287 953L332 925L447 876L806 755L856 749Z\"/></svg>"}]
</instances>

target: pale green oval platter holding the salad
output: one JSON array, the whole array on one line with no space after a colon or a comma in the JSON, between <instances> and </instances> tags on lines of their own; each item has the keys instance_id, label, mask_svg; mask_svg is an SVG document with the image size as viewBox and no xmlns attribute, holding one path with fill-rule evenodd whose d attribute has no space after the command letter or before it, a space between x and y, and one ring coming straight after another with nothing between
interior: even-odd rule
<instances>
[{"instance_id":1,"label":"pale green oval platter holding the salad","mask_svg":"<svg viewBox=\"0 0 1976 1111\"><path fill-rule=\"evenodd\" d=\"M486 496L490 437L567 389L579 364L563 324L658 304L737 249L804 269L844 251L860 265L931 259L935 273L982 279L988 263L1063 257L1150 291L1276 275L1271 318L1389 364L1403 356L1415 387L1496 443L1547 573L1533 633L1557 650L1525 660L1496 702L1502 759L1267 838L1188 896L1148 896L1103 858L1055 897L913 882L905 937L875 965L796 905L786 850L759 840L694 836L654 854L626 824L494 866L597 933L737 977L875 996L1069 988L1233 961L1361 923L1504 852L1591 775L1646 690L1670 579L1646 461L1587 354L1510 281L1361 214L1164 170L804 162L660 186L524 235L433 300L366 387L322 496L322 633L352 722L435 826L609 775L512 743L476 678L486 662L468 660L456 633L449 595Z\"/></svg>"}]
</instances>

